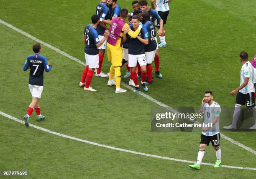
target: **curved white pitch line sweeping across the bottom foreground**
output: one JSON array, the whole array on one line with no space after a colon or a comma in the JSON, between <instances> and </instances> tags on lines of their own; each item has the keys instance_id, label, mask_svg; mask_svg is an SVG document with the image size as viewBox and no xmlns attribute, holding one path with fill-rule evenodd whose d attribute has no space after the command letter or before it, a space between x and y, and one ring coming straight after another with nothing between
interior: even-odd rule
<instances>
[{"instance_id":1,"label":"curved white pitch line sweeping across the bottom foreground","mask_svg":"<svg viewBox=\"0 0 256 179\"><path fill-rule=\"evenodd\" d=\"M9 114L6 114L6 113L4 113L2 111L0 111L0 114L2 116L4 116L4 117L12 119L12 120L14 120L16 122L20 122L21 124L24 124L24 121L22 121L20 119L17 119L15 117L12 117ZM182 159L175 159L175 158L170 158L170 157L163 157L163 156L159 156L159 155L146 154L146 153L142 153L142 152L136 152L136 151L133 151L133 150L126 150L126 149L112 147L112 146L108 146L108 145L104 145L104 144L98 144L96 142L91 142L91 141L88 141L88 140L79 139L77 137L72 137L72 136L69 136L69 135L60 134L58 132L54 132L54 131L45 129L43 127L38 127L38 126L36 126L34 124L29 124L29 126L33 127L33 128L36 128L36 129L39 129L39 130L44 131L44 132L48 132L50 134L54 134L54 135L57 135L57 136L60 136L60 137L67 138L67 139L72 139L72 140L76 140L76 141L79 141L79 142L84 142L84 143L87 143L87 144L91 144L91 145L95 145L95 146L99 146L99 147L104 147L104 148L108 148L108 149L113 149L113 150L117 150L117 151L121 151L121 152L128 152L128 153L132 153L132 154L143 155L143 156L147 156L147 157L154 157L154 158L159 158L159 159L172 160L172 161L176 161L176 162L185 162L185 163L190 163L190 164L195 163L194 161L189 161L189 160L182 160ZM210 164L210 163L202 163L202 165L214 166L214 164ZM231 168L231 169L256 170L256 168L236 167L236 166L230 166L230 165L221 165L220 167Z\"/></svg>"}]
</instances>

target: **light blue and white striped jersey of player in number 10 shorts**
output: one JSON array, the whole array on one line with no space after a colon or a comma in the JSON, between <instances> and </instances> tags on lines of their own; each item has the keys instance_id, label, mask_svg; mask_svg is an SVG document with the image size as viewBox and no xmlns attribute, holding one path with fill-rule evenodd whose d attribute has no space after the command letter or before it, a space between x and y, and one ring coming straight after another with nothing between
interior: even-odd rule
<instances>
[{"instance_id":1,"label":"light blue and white striped jersey of player in number 10 shorts","mask_svg":"<svg viewBox=\"0 0 256 179\"><path fill-rule=\"evenodd\" d=\"M202 134L206 136L213 136L215 134L220 133L220 105L217 102L213 102L210 106L208 103L205 103L203 107L203 113L204 113L204 124L210 124L214 121L215 117L219 117L218 121L210 127L210 129L206 132L202 132ZM202 129L204 129L206 126L202 126Z\"/></svg>"}]
</instances>

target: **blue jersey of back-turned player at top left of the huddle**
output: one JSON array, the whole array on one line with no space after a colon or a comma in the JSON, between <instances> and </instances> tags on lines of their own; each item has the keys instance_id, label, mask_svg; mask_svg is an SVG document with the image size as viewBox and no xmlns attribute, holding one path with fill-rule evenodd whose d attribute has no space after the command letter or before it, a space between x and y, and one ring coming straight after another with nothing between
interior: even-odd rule
<instances>
[{"instance_id":1,"label":"blue jersey of back-turned player at top left of the huddle","mask_svg":"<svg viewBox=\"0 0 256 179\"><path fill-rule=\"evenodd\" d=\"M108 6L105 3L100 2L96 6L96 14L100 16L100 19L108 19ZM105 28L103 28L101 25L98 25L97 32L99 35L103 35L105 32Z\"/></svg>"}]
</instances>

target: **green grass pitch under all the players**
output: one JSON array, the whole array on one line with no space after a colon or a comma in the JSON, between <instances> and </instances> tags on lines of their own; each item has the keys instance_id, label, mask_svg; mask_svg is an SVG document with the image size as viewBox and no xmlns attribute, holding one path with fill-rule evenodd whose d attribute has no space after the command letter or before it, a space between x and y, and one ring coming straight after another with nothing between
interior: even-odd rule
<instances>
[{"instance_id":1,"label":"green grass pitch under all the players","mask_svg":"<svg viewBox=\"0 0 256 179\"><path fill-rule=\"evenodd\" d=\"M1 0L0 19L84 61L82 33L98 0ZM118 0L131 7L132 0ZM148 0L149 2L149 0ZM200 106L212 90L221 107L233 107L230 91L239 85L243 50L256 53L256 0L173 0L166 24L167 48L160 49L160 71L147 94L172 107ZM22 119L31 101L28 72L22 67L35 41L0 24L0 111ZM128 90L115 94L107 79L93 77L96 93L78 87L83 65L42 46L53 65L44 74L42 123L31 123L113 147L195 161L200 133L151 132L151 108L158 105ZM107 55L102 70L108 72ZM153 67L154 69L154 67ZM122 76L125 67L122 69ZM122 79L128 83L128 79ZM125 88L125 87L124 87ZM118 105L116 105L118 104ZM115 110L114 110L115 108ZM115 112L116 111L116 112ZM115 112L115 113L114 113ZM229 119L231 121L231 119ZM253 124L253 122L252 122ZM256 150L256 133L225 133ZM255 154L220 139L222 163L256 166ZM203 162L214 163L207 147ZM0 116L0 170L28 170L29 178L255 178L256 171L156 159L65 139ZM254 177L253 177L254 176Z\"/></svg>"}]
</instances>

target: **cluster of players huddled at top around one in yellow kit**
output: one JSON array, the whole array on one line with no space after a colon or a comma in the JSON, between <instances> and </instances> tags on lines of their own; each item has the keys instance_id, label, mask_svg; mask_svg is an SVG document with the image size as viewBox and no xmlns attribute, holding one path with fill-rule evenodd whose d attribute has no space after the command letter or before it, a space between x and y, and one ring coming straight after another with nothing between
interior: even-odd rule
<instances>
[{"instance_id":1,"label":"cluster of players huddled at top around one in yellow kit","mask_svg":"<svg viewBox=\"0 0 256 179\"><path fill-rule=\"evenodd\" d=\"M169 14L169 3L172 0L151 0L152 7L147 0L133 1L133 10L128 14L127 9L121 9L117 0L101 0L96 6L96 14L92 15L92 24L87 25L82 36L86 67L79 83L86 91L96 91L90 87L93 77L109 77L108 86L115 85L115 93L126 92L120 88L120 68L125 65L125 78L130 77L129 85L139 92L138 78L141 86L148 91L146 85L153 84L153 70L151 63L155 62L155 75L163 76L159 72L159 47L166 47L164 24ZM125 23L125 20L129 23ZM109 18L109 20L108 20ZM108 27L107 25L110 25ZM159 30L156 32L156 28ZM160 36L157 44L156 35ZM111 61L108 74L101 72L102 62L107 48L108 60ZM95 70L97 69L97 70Z\"/></svg>"}]
</instances>

